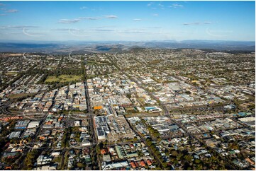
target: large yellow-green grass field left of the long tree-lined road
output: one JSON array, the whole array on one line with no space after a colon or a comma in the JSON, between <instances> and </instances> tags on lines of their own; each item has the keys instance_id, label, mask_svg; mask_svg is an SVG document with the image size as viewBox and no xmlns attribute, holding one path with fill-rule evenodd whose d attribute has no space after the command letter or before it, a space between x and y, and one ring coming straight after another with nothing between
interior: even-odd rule
<instances>
[{"instance_id":1,"label":"large yellow-green grass field left of the long tree-lined road","mask_svg":"<svg viewBox=\"0 0 256 171\"><path fill-rule=\"evenodd\" d=\"M56 76L48 76L45 80L45 83L53 83L60 81L60 83L71 82L71 81L82 81L82 76L75 75L60 75Z\"/></svg>"}]
</instances>

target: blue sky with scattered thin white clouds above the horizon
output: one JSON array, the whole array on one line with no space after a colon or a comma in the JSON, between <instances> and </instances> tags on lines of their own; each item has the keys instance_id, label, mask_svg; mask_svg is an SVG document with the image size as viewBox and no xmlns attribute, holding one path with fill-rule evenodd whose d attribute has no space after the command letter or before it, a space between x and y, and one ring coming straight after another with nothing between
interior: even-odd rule
<instances>
[{"instance_id":1,"label":"blue sky with scattered thin white clouds above the horizon","mask_svg":"<svg viewBox=\"0 0 256 171\"><path fill-rule=\"evenodd\" d=\"M0 40L255 41L255 1L0 1Z\"/></svg>"}]
</instances>

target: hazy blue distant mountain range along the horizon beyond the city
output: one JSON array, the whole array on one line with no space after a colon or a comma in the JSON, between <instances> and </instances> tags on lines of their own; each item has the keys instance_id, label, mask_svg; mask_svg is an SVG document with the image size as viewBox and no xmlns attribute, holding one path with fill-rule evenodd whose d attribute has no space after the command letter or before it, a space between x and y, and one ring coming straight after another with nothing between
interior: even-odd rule
<instances>
[{"instance_id":1,"label":"hazy blue distant mountain range along the horizon beyond the city","mask_svg":"<svg viewBox=\"0 0 256 171\"><path fill-rule=\"evenodd\" d=\"M163 40L163 41L106 41L106 42L0 42L0 52L43 52L43 53L88 53L88 52L124 52L133 47L157 49L213 49L216 51L252 51L255 42L216 41L216 40Z\"/></svg>"}]
</instances>

